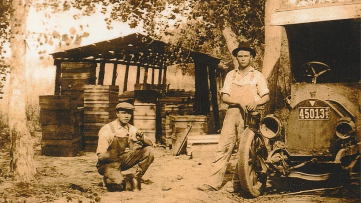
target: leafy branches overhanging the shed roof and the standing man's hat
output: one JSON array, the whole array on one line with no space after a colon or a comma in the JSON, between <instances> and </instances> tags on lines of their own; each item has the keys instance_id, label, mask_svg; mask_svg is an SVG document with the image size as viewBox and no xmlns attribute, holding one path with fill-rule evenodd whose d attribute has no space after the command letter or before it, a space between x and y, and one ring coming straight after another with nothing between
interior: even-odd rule
<instances>
[{"instance_id":1,"label":"leafy branches overhanging the shed roof and the standing man's hat","mask_svg":"<svg viewBox=\"0 0 361 203\"><path fill-rule=\"evenodd\" d=\"M97 1L98 0L94 0ZM264 43L264 4L260 0L100 0L108 25L118 20L143 25L150 36L192 51L227 58L223 22L255 47ZM110 12L109 12L110 9ZM111 28L110 26L108 27Z\"/></svg>"}]
</instances>

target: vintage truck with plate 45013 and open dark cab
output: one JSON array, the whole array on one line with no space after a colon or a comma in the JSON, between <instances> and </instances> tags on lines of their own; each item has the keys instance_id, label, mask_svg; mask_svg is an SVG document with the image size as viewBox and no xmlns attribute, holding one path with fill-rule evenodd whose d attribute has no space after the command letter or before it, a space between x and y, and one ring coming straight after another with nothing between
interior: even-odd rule
<instances>
[{"instance_id":1,"label":"vintage truck with plate 45013 and open dark cab","mask_svg":"<svg viewBox=\"0 0 361 203\"><path fill-rule=\"evenodd\" d=\"M342 9L348 12L339 14ZM250 115L236 171L245 197L261 195L271 173L309 181L360 178L360 10L360 1L352 1L275 13L273 24L285 28L289 43L289 113L284 121Z\"/></svg>"}]
</instances>

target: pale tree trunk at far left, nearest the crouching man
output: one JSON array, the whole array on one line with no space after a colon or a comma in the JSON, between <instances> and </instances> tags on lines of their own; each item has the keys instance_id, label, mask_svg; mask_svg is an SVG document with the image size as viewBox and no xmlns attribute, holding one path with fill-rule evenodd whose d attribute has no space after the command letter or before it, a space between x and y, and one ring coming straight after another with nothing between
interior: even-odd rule
<instances>
[{"instance_id":1,"label":"pale tree trunk at far left, nearest the crouching man","mask_svg":"<svg viewBox=\"0 0 361 203\"><path fill-rule=\"evenodd\" d=\"M34 150L26 116L26 23L29 2L12 0L10 58L10 170L17 181L35 180Z\"/></svg>"}]
</instances>

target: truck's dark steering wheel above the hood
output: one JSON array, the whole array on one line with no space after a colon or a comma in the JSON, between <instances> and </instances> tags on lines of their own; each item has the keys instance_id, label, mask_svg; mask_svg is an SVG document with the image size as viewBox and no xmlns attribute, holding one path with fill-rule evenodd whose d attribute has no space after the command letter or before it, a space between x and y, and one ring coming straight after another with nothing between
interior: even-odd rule
<instances>
[{"instance_id":1,"label":"truck's dark steering wheel above the hood","mask_svg":"<svg viewBox=\"0 0 361 203\"><path fill-rule=\"evenodd\" d=\"M317 78L331 71L331 67L326 63L318 62L318 61L310 61L303 65L301 65L301 69L304 74L301 76L301 80L308 83L317 83Z\"/></svg>"}]
</instances>

